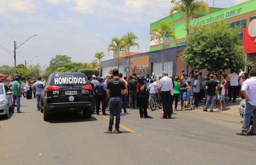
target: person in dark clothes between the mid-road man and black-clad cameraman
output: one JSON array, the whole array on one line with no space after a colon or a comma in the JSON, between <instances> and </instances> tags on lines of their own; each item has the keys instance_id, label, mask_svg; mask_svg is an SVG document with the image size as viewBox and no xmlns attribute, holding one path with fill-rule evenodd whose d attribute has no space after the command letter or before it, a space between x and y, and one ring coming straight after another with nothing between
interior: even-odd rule
<instances>
[{"instance_id":1,"label":"person in dark clothes between the mid-road man and black-clad cameraman","mask_svg":"<svg viewBox=\"0 0 256 165\"><path fill-rule=\"evenodd\" d=\"M137 81L133 79L133 76L130 75L130 80L128 81L128 86L130 89L129 97L130 97L130 108L137 108L137 92L136 92L136 84Z\"/></svg>"}]
</instances>

